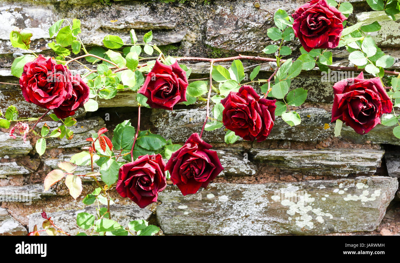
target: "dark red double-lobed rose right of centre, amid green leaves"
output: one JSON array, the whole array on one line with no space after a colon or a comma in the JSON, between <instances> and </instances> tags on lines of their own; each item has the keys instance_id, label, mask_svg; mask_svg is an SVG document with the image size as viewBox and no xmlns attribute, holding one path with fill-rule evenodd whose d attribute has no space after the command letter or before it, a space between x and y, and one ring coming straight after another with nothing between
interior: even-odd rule
<instances>
[{"instance_id":1,"label":"dark red double-lobed rose right of centre, amid green leaves","mask_svg":"<svg viewBox=\"0 0 400 263\"><path fill-rule=\"evenodd\" d=\"M243 85L239 92L221 100L225 127L248 141L264 141L275 120L276 100L260 98L252 86Z\"/></svg>"}]
</instances>

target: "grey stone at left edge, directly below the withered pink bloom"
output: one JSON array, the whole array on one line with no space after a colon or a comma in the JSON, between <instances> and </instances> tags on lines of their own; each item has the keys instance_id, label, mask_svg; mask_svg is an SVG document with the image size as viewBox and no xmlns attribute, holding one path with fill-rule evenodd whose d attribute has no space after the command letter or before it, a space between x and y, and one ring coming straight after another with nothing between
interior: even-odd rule
<instances>
[{"instance_id":1,"label":"grey stone at left edge, directly below the withered pink bloom","mask_svg":"<svg viewBox=\"0 0 400 263\"><path fill-rule=\"evenodd\" d=\"M32 150L32 145L27 139L26 143L21 137L13 139L8 133L0 131L0 156L27 155Z\"/></svg>"}]
</instances>

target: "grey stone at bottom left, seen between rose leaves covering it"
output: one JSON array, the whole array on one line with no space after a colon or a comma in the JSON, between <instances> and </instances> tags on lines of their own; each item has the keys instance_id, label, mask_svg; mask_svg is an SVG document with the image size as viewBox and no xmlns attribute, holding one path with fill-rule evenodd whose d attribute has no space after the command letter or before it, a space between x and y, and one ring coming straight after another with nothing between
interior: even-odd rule
<instances>
[{"instance_id":1,"label":"grey stone at bottom left, seen between rose leaves covering it","mask_svg":"<svg viewBox=\"0 0 400 263\"><path fill-rule=\"evenodd\" d=\"M152 212L146 208L141 209L137 205L111 205L110 211L113 220L117 221L120 225L127 227L128 223L133 220L148 220ZM79 232L85 232L90 234L91 229L84 230L76 225L76 216L78 213L90 213L96 215L96 207L87 206L84 209L79 210L66 210L55 213L47 213L47 216L51 216L54 223L70 235L76 235ZM29 217L29 231L32 231L35 225L41 228L44 219L40 213L34 213ZM40 232L40 235L47 235L45 232Z\"/></svg>"}]
</instances>

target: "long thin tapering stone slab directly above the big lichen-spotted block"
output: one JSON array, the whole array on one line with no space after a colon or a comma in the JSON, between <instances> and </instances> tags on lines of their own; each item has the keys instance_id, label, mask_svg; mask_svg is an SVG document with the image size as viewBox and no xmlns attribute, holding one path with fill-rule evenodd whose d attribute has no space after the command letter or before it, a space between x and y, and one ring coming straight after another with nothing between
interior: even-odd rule
<instances>
[{"instance_id":1,"label":"long thin tapering stone slab directly above the big lichen-spotted block","mask_svg":"<svg viewBox=\"0 0 400 263\"><path fill-rule=\"evenodd\" d=\"M374 175L380 167L384 150L368 149L251 149L254 159L283 171L306 175Z\"/></svg>"}]
</instances>

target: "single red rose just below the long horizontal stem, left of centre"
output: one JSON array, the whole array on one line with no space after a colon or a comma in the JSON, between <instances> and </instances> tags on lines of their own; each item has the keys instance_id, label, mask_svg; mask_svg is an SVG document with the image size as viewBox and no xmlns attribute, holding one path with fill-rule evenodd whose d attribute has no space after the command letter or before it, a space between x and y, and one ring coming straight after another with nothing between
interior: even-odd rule
<instances>
[{"instance_id":1,"label":"single red rose just below the long horizontal stem, left of centre","mask_svg":"<svg viewBox=\"0 0 400 263\"><path fill-rule=\"evenodd\" d=\"M187 101L188 79L178 62L168 66L157 60L146 76L138 93L146 96L151 108L172 110L175 104Z\"/></svg>"}]
</instances>

